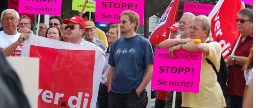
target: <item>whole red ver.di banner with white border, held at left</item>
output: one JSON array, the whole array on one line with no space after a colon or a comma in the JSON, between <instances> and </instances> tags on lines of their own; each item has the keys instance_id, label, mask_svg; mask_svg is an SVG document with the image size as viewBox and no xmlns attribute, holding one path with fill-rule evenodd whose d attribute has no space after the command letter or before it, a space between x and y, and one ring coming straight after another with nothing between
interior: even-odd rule
<instances>
[{"instance_id":1,"label":"whole red ver.di banner with white border, held at left","mask_svg":"<svg viewBox=\"0 0 256 108\"><path fill-rule=\"evenodd\" d=\"M21 56L40 58L38 108L95 108L105 61L100 48L29 35Z\"/></svg>"}]
</instances>

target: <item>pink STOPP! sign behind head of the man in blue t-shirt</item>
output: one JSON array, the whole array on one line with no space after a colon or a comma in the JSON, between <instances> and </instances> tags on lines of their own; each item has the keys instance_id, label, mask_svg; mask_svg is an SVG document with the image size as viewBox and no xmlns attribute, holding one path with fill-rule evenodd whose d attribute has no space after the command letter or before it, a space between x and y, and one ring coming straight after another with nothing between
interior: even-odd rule
<instances>
[{"instance_id":1,"label":"pink STOPP! sign behind head of the man in blue t-shirt","mask_svg":"<svg viewBox=\"0 0 256 108\"><path fill-rule=\"evenodd\" d=\"M97 0L95 21L119 23L120 14L131 10L139 15L139 25L144 23L144 0Z\"/></svg>"}]
</instances>

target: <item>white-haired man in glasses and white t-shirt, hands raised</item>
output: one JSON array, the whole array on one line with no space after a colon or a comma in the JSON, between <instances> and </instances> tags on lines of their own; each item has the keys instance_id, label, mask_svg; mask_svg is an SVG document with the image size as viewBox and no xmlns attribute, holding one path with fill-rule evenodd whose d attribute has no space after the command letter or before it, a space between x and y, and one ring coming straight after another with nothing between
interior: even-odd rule
<instances>
[{"instance_id":1,"label":"white-haired man in glasses and white t-shirt, hands raised","mask_svg":"<svg viewBox=\"0 0 256 108\"><path fill-rule=\"evenodd\" d=\"M27 39L28 33L32 33L31 30L23 28L22 33L17 32L20 17L13 9L4 10L0 22L3 25L3 31L0 32L0 49L5 56L20 56L22 43Z\"/></svg>"}]
</instances>

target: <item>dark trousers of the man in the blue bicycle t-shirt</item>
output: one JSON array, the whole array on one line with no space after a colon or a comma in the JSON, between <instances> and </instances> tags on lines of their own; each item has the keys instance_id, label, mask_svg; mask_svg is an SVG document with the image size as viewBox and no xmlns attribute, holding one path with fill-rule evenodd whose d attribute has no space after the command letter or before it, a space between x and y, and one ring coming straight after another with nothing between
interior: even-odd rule
<instances>
[{"instance_id":1,"label":"dark trousers of the man in the blue bicycle t-shirt","mask_svg":"<svg viewBox=\"0 0 256 108\"><path fill-rule=\"evenodd\" d=\"M109 108L146 108L148 96L146 90L143 90L138 97L135 90L126 94L109 92Z\"/></svg>"}]
</instances>

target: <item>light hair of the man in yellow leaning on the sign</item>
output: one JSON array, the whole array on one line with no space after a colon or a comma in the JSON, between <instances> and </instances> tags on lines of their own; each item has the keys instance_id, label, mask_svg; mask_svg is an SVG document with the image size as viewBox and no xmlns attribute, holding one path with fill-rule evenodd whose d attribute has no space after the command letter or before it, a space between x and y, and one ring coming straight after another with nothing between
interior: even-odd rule
<instances>
[{"instance_id":1,"label":"light hair of the man in yellow leaning on the sign","mask_svg":"<svg viewBox=\"0 0 256 108\"><path fill-rule=\"evenodd\" d=\"M210 19L205 15L199 15L193 18L193 21L202 21L203 22L203 30L207 30L207 36L210 36L211 31L211 22Z\"/></svg>"}]
</instances>

